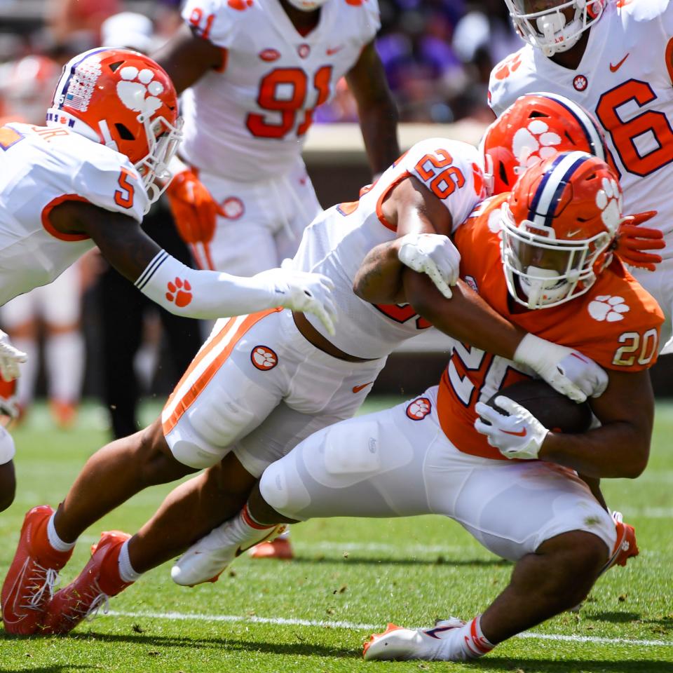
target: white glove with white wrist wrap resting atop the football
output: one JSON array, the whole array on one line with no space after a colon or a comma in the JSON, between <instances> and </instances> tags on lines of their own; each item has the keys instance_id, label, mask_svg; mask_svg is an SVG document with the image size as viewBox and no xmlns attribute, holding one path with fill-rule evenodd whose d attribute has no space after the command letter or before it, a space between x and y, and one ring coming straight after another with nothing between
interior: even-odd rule
<instances>
[{"instance_id":1,"label":"white glove with white wrist wrap resting atop the football","mask_svg":"<svg viewBox=\"0 0 673 673\"><path fill-rule=\"evenodd\" d=\"M608 375L579 351L526 334L514 354L515 362L526 365L552 388L573 402L600 397L608 386Z\"/></svg>"}]
</instances>

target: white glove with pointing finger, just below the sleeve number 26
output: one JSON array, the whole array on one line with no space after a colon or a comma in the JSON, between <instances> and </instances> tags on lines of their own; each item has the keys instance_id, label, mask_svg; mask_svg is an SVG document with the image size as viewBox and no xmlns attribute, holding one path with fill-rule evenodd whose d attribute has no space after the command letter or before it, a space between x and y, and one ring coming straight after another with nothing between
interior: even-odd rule
<instances>
[{"instance_id":1,"label":"white glove with pointing finger, just below the sleeve number 26","mask_svg":"<svg viewBox=\"0 0 673 673\"><path fill-rule=\"evenodd\" d=\"M448 236L439 233L407 233L400 238L397 257L418 273L427 273L444 297L451 299L451 288L458 282L461 253Z\"/></svg>"}]
</instances>

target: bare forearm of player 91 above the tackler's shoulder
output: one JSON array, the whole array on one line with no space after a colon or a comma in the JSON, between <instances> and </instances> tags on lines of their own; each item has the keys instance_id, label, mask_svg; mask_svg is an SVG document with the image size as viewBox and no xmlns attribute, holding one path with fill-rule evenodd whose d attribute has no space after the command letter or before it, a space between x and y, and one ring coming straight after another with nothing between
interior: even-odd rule
<instances>
[{"instance_id":1,"label":"bare forearm of player 91 above the tackler's shoulder","mask_svg":"<svg viewBox=\"0 0 673 673\"><path fill-rule=\"evenodd\" d=\"M401 154L397 143L397 108L393 99L383 98L359 109L362 140L372 175L380 175Z\"/></svg>"}]
</instances>

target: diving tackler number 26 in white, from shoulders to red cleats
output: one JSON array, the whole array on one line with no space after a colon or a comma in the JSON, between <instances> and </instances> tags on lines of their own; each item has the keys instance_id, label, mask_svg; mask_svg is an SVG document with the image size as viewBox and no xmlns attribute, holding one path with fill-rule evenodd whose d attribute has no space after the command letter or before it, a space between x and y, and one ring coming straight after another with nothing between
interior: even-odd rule
<instances>
[{"instance_id":1,"label":"diving tackler number 26 in white, from shoulders to red cleats","mask_svg":"<svg viewBox=\"0 0 673 673\"><path fill-rule=\"evenodd\" d=\"M581 142L590 138L599 141L599 133ZM101 594L120 592L221 523L226 512L238 512L267 465L318 428L353 416L388 353L430 323L525 360L575 399L600 393L604 372L579 353L512 329L462 283L449 287L458 258L447 236L484 193L480 163L479 152L465 143L419 142L359 201L316 218L293 264L334 278L337 332L330 337L315 320L290 311L219 321L162 418L90 458L57 512L41 505L28 513L3 588L6 628L28 632L41 623L49 632L67 632ZM393 240L403 263L417 272L407 286L409 304L370 304L353 294L353 280L365 255ZM165 458L169 451L173 461ZM90 524L145 485L179 476L176 459L182 474L209 469L177 487L133 538L104 533L85 571L48 604L45 591L36 594ZM28 604L34 611L22 609Z\"/></svg>"}]
</instances>

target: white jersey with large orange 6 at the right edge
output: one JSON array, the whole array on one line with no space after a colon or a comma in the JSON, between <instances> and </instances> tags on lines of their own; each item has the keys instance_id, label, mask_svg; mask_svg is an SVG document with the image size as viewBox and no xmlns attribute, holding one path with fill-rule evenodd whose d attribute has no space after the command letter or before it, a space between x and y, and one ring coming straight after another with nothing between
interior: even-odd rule
<instances>
[{"instance_id":1,"label":"white jersey with large orange 6 at the right edge","mask_svg":"<svg viewBox=\"0 0 673 673\"><path fill-rule=\"evenodd\" d=\"M491 72L489 104L501 114L517 97L548 91L574 100L605 130L625 212L658 210L646 226L670 230L673 201L673 2L611 2L590 29L577 69L525 46ZM673 233L665 257L673 256Z\"/></svg>"}]
</instances>

